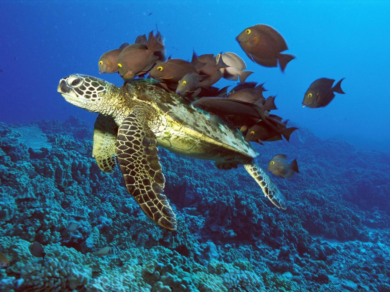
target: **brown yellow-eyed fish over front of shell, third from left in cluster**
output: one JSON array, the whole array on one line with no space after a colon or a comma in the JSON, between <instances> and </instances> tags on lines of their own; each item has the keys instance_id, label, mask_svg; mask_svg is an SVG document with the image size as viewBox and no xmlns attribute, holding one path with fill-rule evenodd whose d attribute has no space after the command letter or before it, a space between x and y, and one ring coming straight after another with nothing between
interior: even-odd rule
<instances>
[{"instance_id":1,"label":"brown yellow-eyed fish over front of shell, third from left in cluster","mask_svg":"<svg viewBox=\"0 0 390 292\"><path fill-rule=\"evenodd\" d=\"M198 73L198 71L190 62L181 59L168 59L154 65L149 71L152 78L166 84L172 90L176 90L179 81L188 73Z\"/></svg>"}]
</instances>

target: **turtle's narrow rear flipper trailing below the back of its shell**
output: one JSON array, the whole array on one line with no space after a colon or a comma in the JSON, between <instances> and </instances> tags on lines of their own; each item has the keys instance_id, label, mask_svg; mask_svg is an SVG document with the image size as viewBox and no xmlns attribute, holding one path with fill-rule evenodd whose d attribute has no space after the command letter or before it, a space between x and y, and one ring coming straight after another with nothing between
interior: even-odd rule
<instances>
[{"instance_id":1,"label":"turtle's narrow rear flipper trailing below the back of its shell","mask_svg":"<svg viewBox=\"0 0 390 292\"><path fill-rule=\"evenodd\" d=\"M264 195L278 208L286 209L286 200L278 187L271 181L268 174L255 164L245 164L246 171L261 187Z\"/></svg>"}]
</instances>

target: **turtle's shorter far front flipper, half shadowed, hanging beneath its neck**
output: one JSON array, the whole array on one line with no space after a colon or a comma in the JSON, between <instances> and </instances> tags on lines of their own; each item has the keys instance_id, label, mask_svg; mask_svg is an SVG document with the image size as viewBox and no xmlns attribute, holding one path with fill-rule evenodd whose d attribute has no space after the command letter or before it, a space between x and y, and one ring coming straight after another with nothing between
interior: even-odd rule
<instances>
[{"instance_id":1,"label":"turtle's shorter far front flipper, half shadowed, hanging beneath its neck","mask_svg":"<svg viewBox=\"0 0 390 292\"><path fill-rule=\"evenodd\" d=\"M109 116L99 114L94 125L94 144L92 157L95 158L97 166L104 171L113 170L117 161L115 159L118 126Z\"/></svg>"}]
</instances>

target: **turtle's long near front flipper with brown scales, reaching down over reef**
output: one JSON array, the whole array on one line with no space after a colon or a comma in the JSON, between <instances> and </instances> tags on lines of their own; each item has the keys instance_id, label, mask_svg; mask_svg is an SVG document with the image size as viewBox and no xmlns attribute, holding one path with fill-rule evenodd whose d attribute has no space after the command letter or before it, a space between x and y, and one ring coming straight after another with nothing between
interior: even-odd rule
<instances>
[{"instance_id":1,"label":"turtle's long near front flipper with brown scales, reaching down over reef","mask_svg":"<svg viewBox=\"0 0 390 292\"><path fill-rule=\"evenodd\" d=\"M175 230L175 214L162 194L165 178L156 144L143 114L133 111L119 127L117 156L128 192L152 220Z\"/></svg>"}]
</instances>

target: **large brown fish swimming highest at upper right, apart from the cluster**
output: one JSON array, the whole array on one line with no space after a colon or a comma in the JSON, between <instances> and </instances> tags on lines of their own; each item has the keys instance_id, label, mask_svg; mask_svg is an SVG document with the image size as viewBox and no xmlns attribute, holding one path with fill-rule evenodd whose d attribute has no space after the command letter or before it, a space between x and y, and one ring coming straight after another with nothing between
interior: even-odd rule
<instances>
[{"instance_id":1,"label":"large brown fish swimming highest at upper right, apart from the cluster","mask_svg":"<svg viewBox=\"0 0 390 292\"><path fill-rule=\"evenodd\" d=\"M284 71L287 63L295 58L281 53L288 49L287 44L282 35L268 25L250 26L236 40L248 58L264 67L277 67L279 60L280 69Z\"/></svg>"}]
</instances>

